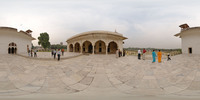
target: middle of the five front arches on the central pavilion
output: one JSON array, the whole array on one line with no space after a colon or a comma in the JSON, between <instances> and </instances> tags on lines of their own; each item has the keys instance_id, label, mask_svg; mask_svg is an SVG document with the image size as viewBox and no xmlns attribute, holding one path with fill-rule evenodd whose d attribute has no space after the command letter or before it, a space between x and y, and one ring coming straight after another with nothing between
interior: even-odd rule
<instances>
[{"instance_id":1,"label":"middle of the five front arches on the central pavilion","mask_svg":"<svg viewBox=\"0 0 200 100\"><path fill-rule=\"evenodd\" d=\"M83 42L82 48L83 48L82 49L83 53L92 53L93 52L92 42L90 42L90 41Z\"/></svg>"}]
</instances>

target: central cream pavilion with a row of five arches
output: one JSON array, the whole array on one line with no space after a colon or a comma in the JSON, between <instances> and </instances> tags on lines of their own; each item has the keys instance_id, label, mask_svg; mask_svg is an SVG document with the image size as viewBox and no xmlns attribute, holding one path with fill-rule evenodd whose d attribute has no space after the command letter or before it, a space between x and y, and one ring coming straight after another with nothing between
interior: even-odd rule
<instances>
[{"instance_id":1,"label":"central cream pavilion with a row of five arches","mask_svg":"<svg viewBox=\"0 0 200 100\"><path fill-rule=\"evenodd\" d=\"M110 31L89 31L69 38L68 52L91 54L113 54L117 49L123 50L123 40L127 39L122 34Z\"/></svg>"}]
</instances>

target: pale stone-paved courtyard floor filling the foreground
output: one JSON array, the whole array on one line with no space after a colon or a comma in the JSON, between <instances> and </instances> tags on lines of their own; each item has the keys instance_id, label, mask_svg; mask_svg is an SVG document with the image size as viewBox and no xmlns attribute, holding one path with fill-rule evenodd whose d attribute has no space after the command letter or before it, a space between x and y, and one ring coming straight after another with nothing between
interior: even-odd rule
<instances>
[{"instance_id":1,"label":"pale stone-paved courtyard floor filling the foreground","mask_svg":"<svg viewBox=\"0 0 200 100\"><path fill-rule=\"evenodd\" d=\"M82 55L47 61L1 55L0 100L55 98L199 100L200 56L177 55L151 63L136 56Z\"/></svg>"}]
</instances>

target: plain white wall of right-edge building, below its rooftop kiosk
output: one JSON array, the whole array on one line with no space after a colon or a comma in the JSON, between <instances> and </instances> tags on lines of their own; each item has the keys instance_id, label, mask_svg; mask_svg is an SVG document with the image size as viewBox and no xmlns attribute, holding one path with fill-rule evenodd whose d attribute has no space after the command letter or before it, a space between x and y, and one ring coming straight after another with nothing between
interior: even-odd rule
<instances>
[{"instance_id":1,"label":"plain white wall of right-edge building, below its rooftop kiosk","mask_svg":"<svg viewBox=\"0 0 200 100\"><path fill-rule=\"evenodd\" d=\"M188 48L192 48L192 54L200 54L200 29L191 29L181 33L182 53L189 54Z\"/></svg>"}]
</instances>

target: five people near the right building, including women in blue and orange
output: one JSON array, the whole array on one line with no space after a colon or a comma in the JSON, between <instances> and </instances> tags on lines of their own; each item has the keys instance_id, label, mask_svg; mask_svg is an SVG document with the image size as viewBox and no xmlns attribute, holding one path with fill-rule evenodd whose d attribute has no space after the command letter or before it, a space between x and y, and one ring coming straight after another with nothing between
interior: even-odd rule
<instances>
[{"instance_id":1,"label":"five people near the right building, including women in blue and orange","mask_svg":"<svg viewBox=\"0 0 200 100\"><path fill-rule=\"evenodd\" d=\"M142 59L145 60L145 53L146 53L146 50L143 49L142 51ZM152 58L153 58L153 61L152 63L155 63L156 62L156 57L158 57L158 63L161 63L161 59L162 59L162 52L159 50L157 55L155 53L155 50L153 50L152 52ZM141 59L141 50L138 50L138 59L140 60ZM168 53L167 55L167 61L171 60L170 58L170 54Z\"/></svg>"}]
</instances>

